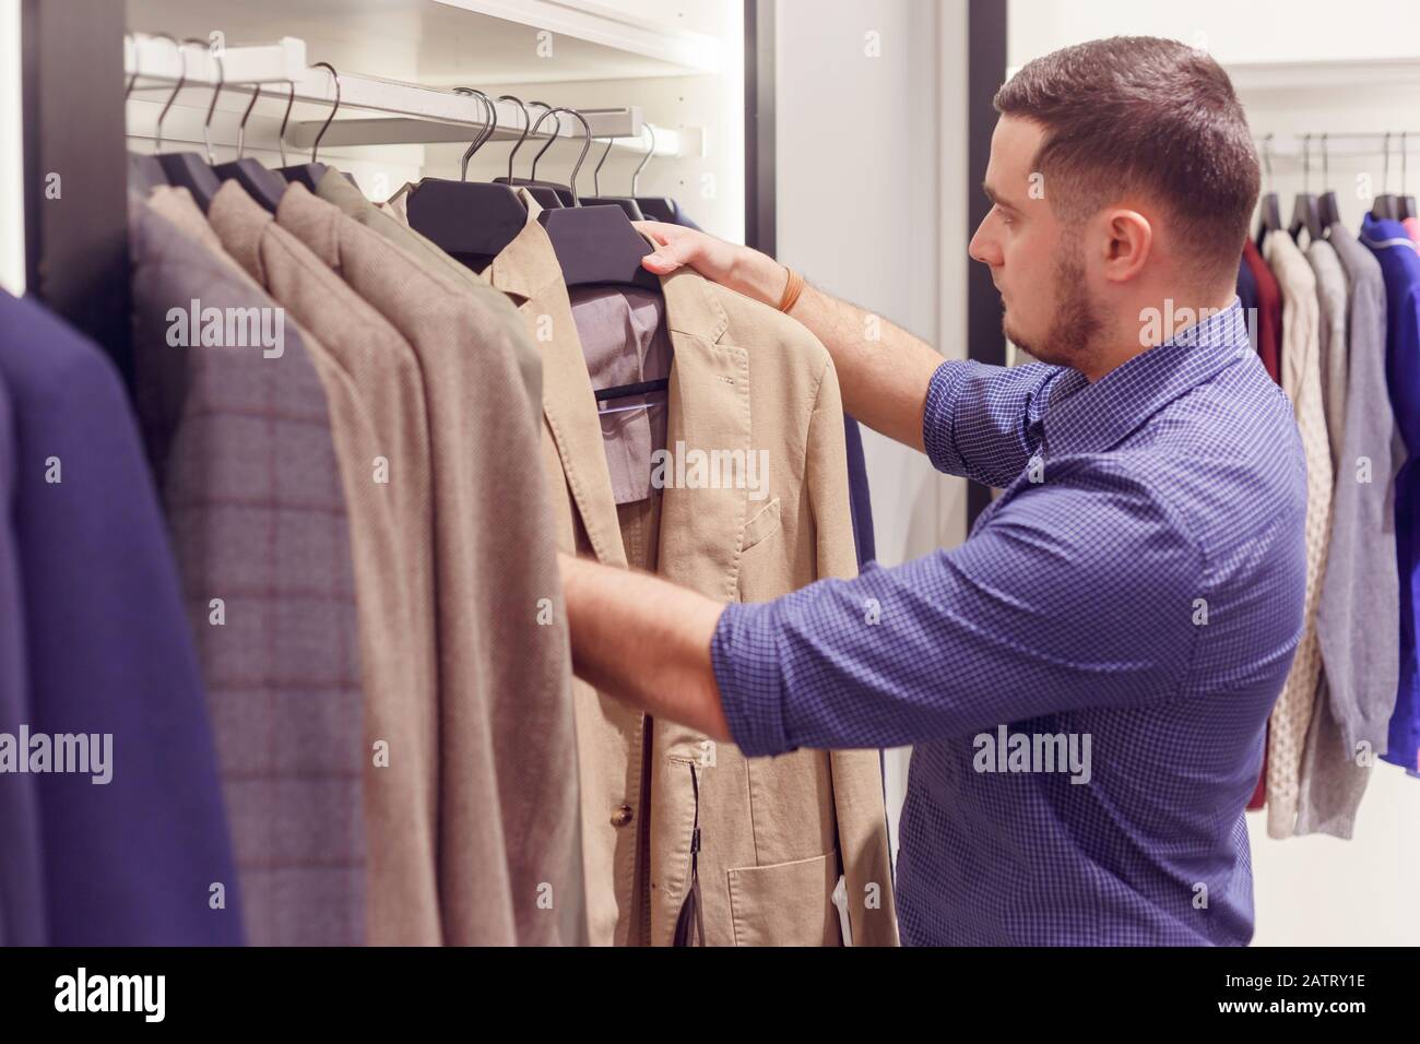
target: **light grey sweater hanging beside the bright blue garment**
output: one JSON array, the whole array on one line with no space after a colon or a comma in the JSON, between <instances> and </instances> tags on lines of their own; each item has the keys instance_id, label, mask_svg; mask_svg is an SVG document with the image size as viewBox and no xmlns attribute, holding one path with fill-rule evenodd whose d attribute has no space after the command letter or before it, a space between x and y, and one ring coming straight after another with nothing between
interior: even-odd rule
<instances>
[{"instance_id":1,"label":"light grey sweater hanging beside the bright blue garment","mask_svg":"<svg viewBox=\"0 0 1420 1044\"><path fill-rule=\"evenodd\" d=\"M1349 284L1349 365L1331 550L1316 611L1323 680L1302 756L1296 832L1349 838L1369 766L1386 749L1399 683L1392 489L1404 449L1386 391L1380 264L1340 224L1332 226L1329 243Z\"/></svg>"}]
</instances>

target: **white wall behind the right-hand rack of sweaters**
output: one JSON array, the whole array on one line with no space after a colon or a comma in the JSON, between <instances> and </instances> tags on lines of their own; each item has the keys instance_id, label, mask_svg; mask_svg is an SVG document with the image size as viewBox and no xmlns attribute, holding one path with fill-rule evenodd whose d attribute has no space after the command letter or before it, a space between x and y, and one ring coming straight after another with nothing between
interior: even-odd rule
<instances>
[{"instance_id":1,"label":"white wall behind the right-hand rack of sweaters","mask_svg":"<svg viewBox=\"0 0 1420 1044\"><path fill-rule=\"evenodd\" d=\"M1384 26L1384 31L1377 31ZM1265 132L1420 129L1420 82L1376 82L1367 61L1406 58L1420 67L1420 6L1387 0L1010 0L1007 62L1109 36L1163 36L1240 62L1356 62L1356 82L1321 87L1299 70L1294 84L1241 89L1255 135ZM1399 142L1397 142L1399 143ZM1420 190L1420 138L1411 138L1410 190ZM1369 207L1355 189L1382 182L1380 156L1331 161L1331 186L1352 227ZM1369 182L1358 180L1365 175ZM1399 161L1392 161L1399 186ZM1312 190L1321 179L1312 168ZM1302 186L1296 159L1274 162L1282 217ZM1372 771L1352 841L1267 837L1265 814L1248 815L1257 896L1254 945L1420 945L1420 780L1390 764Z\"/></svg>"}]
</instances>

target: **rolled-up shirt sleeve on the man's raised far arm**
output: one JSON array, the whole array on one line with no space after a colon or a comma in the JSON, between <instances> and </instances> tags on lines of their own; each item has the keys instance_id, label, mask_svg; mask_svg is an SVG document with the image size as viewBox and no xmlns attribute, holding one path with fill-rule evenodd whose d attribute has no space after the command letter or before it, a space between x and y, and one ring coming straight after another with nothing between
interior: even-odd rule
<instances>
[{"instance_id":1,"label":"rolled-up shirt sleeve on the man's raised far arm","mask_svg":"<svg viewBox=\"0 0 1420 1044\"><path fill-rule=\"evenodd\" d=\"M1010 484L1039 445L1047 392L1064 372L1044 362L943 362L932 375L922 419L933 467L987 486Z\"/></svg>"}]
</instances>

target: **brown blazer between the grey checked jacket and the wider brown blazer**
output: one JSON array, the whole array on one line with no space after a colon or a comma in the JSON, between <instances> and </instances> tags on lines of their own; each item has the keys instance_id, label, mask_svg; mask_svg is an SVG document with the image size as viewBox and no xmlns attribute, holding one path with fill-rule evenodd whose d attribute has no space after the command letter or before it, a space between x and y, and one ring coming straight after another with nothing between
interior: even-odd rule
<instances>
[{"instance_id":1,"label":"brown blazer between the grey checked jacket and the wider brown blazer","mask_svg":"<svg viewBox=\"0 0 1420 1044\"><path fill-rule=\"evenodd\" d=\"M349 510L365 686L366 939L439 945L437 719L429 423L399 332L236 183L207 220L315 341ZM376 457L388 482L376 482ZM375 744L388 758L376 763Z\"/></svg>"}]
</instances>

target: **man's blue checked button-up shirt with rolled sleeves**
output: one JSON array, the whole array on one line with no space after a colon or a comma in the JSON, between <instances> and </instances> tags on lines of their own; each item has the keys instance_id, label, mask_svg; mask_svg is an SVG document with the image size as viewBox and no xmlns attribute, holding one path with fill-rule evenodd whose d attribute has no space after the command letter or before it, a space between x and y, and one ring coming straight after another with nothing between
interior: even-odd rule
<instances>
[{"instance_id":1,"label":"man's blue checked button-up shirt with rolled sleeves","mask_svg":"<svg viewBox=\"0 0 1420 1044\"><path fill-rule=\"evenodd\" d=\"M1306 470L1241 304L1095 384L944 362L923 436L1004 493L960 547L727 607L734 741L916 744L907 943L1245 943L1242 808L1302 634ZM1089 737L1088 784L1003 771L1000 732L1074 736L1082 761Z\"/></svg>"}]
</instances>

